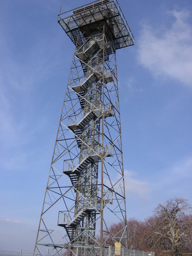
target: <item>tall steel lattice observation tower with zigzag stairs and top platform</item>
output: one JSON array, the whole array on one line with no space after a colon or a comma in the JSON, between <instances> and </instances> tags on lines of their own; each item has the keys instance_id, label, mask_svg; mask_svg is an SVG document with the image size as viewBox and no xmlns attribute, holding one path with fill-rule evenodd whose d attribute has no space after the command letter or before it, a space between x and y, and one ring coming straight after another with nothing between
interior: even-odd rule
<instances>
[{"instance_id":1,"label":"tall steel lattice observation tower with zigzag stairs and top platform","mask_svg":"<svg viewBox=\"0 0 192 256\"><path fill-rule=\"evenodd\" d=\"M86 247L102 255L114 242L127 248L115 52L134 38L111 0L59 14L58 23L75 51L34 253L68 248L88 255ZM111 237L109 226L120 221L122 229Z\"/></svg>"}]
</instances>

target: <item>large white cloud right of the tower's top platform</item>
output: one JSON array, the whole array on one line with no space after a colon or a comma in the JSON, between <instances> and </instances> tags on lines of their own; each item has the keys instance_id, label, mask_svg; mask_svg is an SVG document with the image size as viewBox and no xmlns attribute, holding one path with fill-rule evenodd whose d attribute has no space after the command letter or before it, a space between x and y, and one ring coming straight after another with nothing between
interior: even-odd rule
<instances>
[{"instance_id":1,"label":"large white cloud right of the tower's top platform","mask_svg":"<svg viewBox=\"0 0 192 256\"><path fill-rule=\"evenodd\" d=\"M173 10L167 15L175 17L170 29L162 31L160 26L152 28L143 25L138 41L139 63L150 69L156 77L177 79L191 86L192 29L187 22L189 12Z\"/></svg>"}]
</instances>

